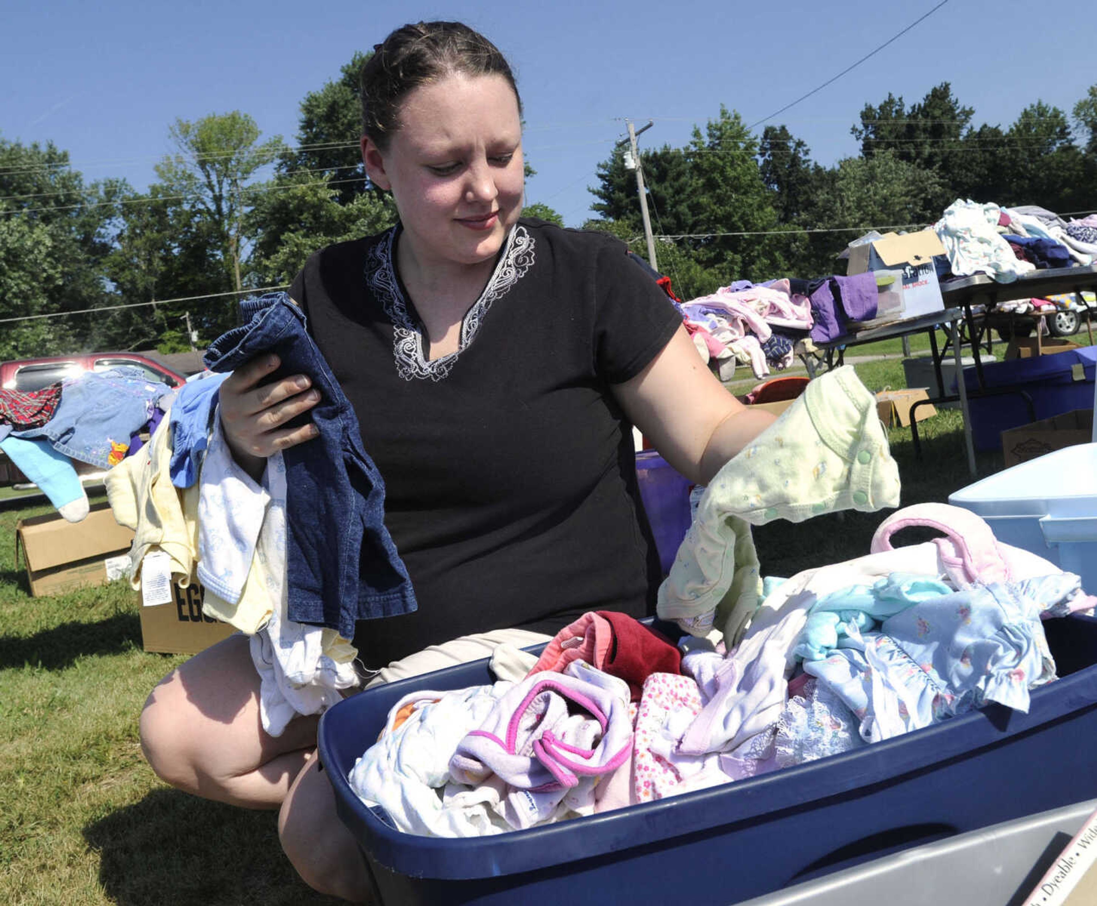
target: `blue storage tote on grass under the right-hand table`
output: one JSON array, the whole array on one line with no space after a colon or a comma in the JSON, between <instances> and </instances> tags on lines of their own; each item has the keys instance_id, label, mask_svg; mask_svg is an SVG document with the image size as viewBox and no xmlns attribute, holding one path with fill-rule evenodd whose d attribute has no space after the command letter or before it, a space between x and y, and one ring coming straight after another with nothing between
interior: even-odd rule
<instances>
[{"instance_id":1,"label":"blue storage tote on grass under the right-hand table","mask_svg":"<svg viewBox=\"0 0 1097 906\"><path fill-rule=\"evenodd\" d=\"M1093 408L1095 363L1097 347L991 362L983 365L987 395L980 395L975 369L964 369L975 449L998 450L1003 431L1071 409ZM1032 401L1031 411L1028 399Z\"/></svg>"}]
</instances>

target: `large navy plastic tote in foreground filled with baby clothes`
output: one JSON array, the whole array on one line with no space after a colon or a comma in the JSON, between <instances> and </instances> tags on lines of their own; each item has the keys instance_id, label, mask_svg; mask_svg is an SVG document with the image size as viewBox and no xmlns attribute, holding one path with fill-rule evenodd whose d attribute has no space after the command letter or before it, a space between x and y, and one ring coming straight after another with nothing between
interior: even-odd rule
<instances>
[{"instance_id":1,"label":"large navy plastic tote in foreground filled with baby clothes","mask_svg":"<svg viewBox=\"0 0 1097 906\"><path fill-rule=\"evenodd\" d=\"M1097 796L1097 760L1087 756L1097 744L1097 620L1045 628L1062 679L1032 692L1028 714L989 705L783 771L513 834L402 834L347 780L398 699L491 682L486 660L335 705L320 720L320 760L377 903L737 903Z\"/></svg>"}]
</instances>

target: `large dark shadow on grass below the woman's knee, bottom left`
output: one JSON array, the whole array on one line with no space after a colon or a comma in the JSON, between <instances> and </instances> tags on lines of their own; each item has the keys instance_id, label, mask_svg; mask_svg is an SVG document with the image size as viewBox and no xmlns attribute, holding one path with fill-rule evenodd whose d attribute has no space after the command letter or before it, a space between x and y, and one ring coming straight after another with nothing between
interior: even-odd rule
<instances>
[{"instance_id":1,"label":"large dark shadow on grass below the woman's knee, bottom left","mask_svg":"<svg viewBox=\"0 0 1097 906\"><path fill-rule=\"evenodd\" d=\"M154 790L83 828L99 881L120 906L237 906L342 901L308 887L282 853L274 812Z\"/></svg>"}]
</instances>

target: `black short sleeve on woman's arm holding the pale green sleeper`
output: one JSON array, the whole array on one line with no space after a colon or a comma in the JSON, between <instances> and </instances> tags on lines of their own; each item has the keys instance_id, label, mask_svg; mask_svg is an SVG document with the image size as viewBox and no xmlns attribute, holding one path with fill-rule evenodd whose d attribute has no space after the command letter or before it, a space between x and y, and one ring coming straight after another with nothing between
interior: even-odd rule
<instances>
[{"instance_id":1,"label":"black short sleeve on woman's arm holding the pale green sleeper","mask_svg":"<svg viewBox=\"0 0 1097 906\"><path fill-rule=\"evenodd\" d=\"M595 365L611 384L635 377L670 342L682 317L623 244L608 241L595 272Z\"/></svg>"}]
</instances>

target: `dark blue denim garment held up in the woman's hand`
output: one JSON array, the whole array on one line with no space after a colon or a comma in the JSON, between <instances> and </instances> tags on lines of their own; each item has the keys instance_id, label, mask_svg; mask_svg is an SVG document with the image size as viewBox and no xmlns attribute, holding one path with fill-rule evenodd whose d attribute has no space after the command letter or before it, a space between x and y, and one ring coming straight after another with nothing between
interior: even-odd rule
<instances>
[{"instance_id":1,"label":"dark blue denim garment held up in the woman's hand","mask_svg":"<svg viewBox=\"0 0 1097 906\"><path fill-rule=\"evenodd\" d=\"M357 620L416 609L407 568L384 523L385 484L362 446L358 418L285 293L240 303L249 322L206 350L211 371L262 353L282 360L274 377L306 374L321 399L310 410L319 437L286 450L287 616L354 637Z\"/></svg>"}]
</instances>

